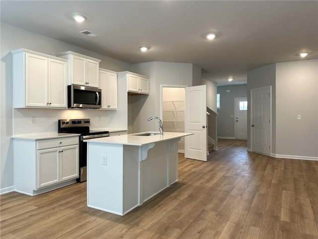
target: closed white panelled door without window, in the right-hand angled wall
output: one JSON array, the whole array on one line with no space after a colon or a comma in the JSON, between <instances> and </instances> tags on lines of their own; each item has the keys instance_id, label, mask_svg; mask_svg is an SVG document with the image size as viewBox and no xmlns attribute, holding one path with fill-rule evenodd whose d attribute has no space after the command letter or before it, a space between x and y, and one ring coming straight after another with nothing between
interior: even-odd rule
<instances>
[{"instance_id":1,"label":"closed white panelled door without window, in the right-hand angled wall","mask_svg":"<svg viewBox=\"0 0 318 239\"><path fill-rule=\"evenodd\" d=\"M270 154L271 88L251 90L251 150Z\"/></svg>"}]
</instances>

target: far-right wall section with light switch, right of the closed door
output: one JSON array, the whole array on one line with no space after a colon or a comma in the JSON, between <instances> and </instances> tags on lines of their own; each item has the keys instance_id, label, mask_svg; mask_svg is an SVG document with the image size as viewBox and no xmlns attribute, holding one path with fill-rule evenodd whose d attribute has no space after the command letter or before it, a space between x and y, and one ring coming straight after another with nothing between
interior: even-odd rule
<instances>
[{"instance_id":1,"label":"far-right wall section with light switch, right of the closed door","mask_svg":"<svg viewBox=\"0 0 318 239\"><path fill-rule=\"evenodd\" d=\"M318 157L317 89L318 59L276 64L277 155Z\"/></svg>"}]
</instances>

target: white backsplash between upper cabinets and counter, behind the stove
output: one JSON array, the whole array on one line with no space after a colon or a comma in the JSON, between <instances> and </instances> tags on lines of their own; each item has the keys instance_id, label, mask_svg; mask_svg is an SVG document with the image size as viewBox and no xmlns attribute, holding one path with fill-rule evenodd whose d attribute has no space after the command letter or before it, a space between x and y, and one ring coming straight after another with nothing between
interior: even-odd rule
<instances>
[{"instance_id":1,"label":"white backsplash between upper cabinets and counter, behind the stove","mask_svg":"<svg viewBox=\"0 0 318 239\"><path fill-rule=\"evenodd\" d=\"M90 119L91 129L108 128L112 112L98 110L13 109L13 135L53 133L58 119Z\"/></svg>"}]
</instances>

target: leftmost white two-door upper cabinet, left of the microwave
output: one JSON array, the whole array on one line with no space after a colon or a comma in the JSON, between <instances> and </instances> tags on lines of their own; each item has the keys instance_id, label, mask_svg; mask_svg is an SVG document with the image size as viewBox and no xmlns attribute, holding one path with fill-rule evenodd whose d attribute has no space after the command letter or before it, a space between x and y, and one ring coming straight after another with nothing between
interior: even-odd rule
<instances>
[{"instance_id":1,"label":"leftmost white two-door upper cabinet, left of the microwave","mask_svg":"<svg viewBox=\"0 0 318 239\"><path fill-rule=\"evenodd\" d=\"M14 108L67 108L66 60L26 49L11 53Z\"/></svg>"}]
</instances>

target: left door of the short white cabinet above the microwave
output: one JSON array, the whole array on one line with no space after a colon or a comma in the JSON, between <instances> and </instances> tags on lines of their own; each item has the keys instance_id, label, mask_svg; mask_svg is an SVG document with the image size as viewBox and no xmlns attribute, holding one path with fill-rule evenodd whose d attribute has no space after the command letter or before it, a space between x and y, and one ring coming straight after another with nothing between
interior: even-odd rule
<instances>
[{"instance_id":1,"label":"left door of the short white cabinet above the microwave","mask_svg":"<svg viewBox=\"0 0 318 239\"><path fill-rule=\"evenodd\" d=\"M86 86L86 59L72 55L72 84Z\"/></svg>"}]
</instances>

